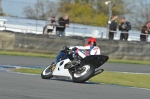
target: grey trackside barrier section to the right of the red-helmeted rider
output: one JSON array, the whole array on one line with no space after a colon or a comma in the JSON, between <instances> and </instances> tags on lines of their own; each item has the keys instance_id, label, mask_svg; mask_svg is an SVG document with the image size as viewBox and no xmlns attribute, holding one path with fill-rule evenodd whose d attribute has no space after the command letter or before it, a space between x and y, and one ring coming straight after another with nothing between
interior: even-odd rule
<instances>
[{"instance_id":1,"label":"grey trackside barrier section to the right of the red-helmeted rider","mask_svg":"<svg viewBox=\"0 0 150 99\"><path fill-rule=\"evenodd\" d=\"M150 43L98 41L102 53L114 59L150 60Z\"/></svg>"}]
</instances>

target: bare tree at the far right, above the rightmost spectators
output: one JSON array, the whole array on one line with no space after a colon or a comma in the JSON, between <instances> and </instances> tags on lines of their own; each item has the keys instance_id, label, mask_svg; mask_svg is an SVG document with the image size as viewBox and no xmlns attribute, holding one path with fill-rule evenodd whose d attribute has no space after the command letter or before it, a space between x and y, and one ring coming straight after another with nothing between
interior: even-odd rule
<instances>
[{"instance_id":1,"label":"bare tree at the far right, above the rightmost spectators","mask_svg":"<svg viewBox=\"0 0 150 99\"><path fill-rule=\"evenodd\" d=\"M141 29L147 21L150 21L150 1L149 0L132 0L128 9L130 9L129 19L133 26Z\"/></svg>"}]
</instances>

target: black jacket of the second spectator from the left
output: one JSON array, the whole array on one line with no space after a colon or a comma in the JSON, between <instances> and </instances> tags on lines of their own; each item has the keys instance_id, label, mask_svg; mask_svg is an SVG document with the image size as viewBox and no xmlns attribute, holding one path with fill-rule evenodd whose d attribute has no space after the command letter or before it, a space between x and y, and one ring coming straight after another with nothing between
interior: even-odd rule
<instances>
[{"instance_id":1,"label":"black jacket of the second spectator from the left","mask_svg":"<svg viewBox=\"0 0 150 99\"><path fill-rule=\"evenodd\" d=\"M56 30L58 31L65 31L66 24L69 24L69 19L64 20L62 17L58 20L59 26L57 26Z\"/></svg>"}]
</instances>

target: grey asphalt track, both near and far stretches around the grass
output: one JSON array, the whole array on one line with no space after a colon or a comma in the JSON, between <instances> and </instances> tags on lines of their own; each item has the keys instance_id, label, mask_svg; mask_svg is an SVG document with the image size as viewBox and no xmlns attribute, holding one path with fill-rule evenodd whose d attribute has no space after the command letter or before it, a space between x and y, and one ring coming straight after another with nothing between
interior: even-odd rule
<instances>
[{"instance_id":1,"label":"grey asphalt track, both near and far stretches around the grass","mask_svg":"<svg viewBox=\"0 0 150 99\"><path fill-rule=\"evenodd\" d=\"M1 65L47 66L54 59L0 55ZM149 73L150 66L106 63L110 71ZM144 69L145 68L145 69ZM150 90L96 83L43 80L38 75L0 71L0 99L149 99Z\"/></svg>"}]
</instances>

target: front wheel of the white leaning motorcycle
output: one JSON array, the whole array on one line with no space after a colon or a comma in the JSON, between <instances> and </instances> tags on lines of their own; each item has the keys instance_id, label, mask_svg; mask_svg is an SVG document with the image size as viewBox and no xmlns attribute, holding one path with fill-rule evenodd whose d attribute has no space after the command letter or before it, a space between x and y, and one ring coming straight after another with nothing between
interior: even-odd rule
<instances>
[{"instance_id":1,"label":"front wheel of the white leaning motorcycle","mask_svg":"<svg viewBox=\"0 0 150 99\"><path fill-rule=\"evenodd\" d=\"M42 71L41 78L42 79L50 79L53 77L52 73L53 73L52 66L50 65Z\"/></svg>"}]
</instances>

